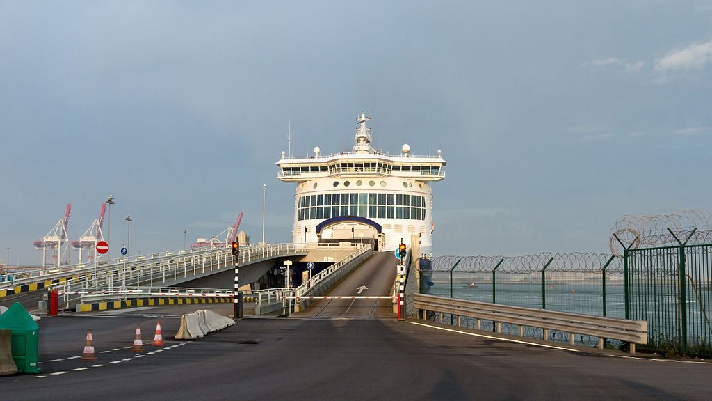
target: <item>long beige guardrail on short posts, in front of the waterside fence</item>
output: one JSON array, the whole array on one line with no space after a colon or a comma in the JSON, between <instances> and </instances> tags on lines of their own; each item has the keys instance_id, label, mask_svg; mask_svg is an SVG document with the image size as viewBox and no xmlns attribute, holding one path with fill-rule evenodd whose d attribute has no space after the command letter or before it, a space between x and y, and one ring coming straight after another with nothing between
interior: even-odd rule
<instances>
[{"instance_id":1,"label":"long beige guardrail on short posts, in front of the waterside fence","mask_svg":"<svg viewBox=\"0 0 712 401\"><path fill-rule=\"evenodd\" d=\"M426 319L427 312L439 313L440 323L443 323L444 314L450 314L457 316L459 326L461 317L475 318L477 328L480 328L481 320L492 320L497 323L497 333L501 333L501 323L518 325L520 337L523 337L524 326L542 328L545 341L549 340L548 330L560 330L569 333L571 344L575 334L598 337L599 348L603 348L606 338L627 341L630 343L631 353L635 353L636 344L648 342L648 323L644 320L602 318L424 294L414 295L414 306L420 311L419 315L423 319Z\"/></svg>"}]
</instances>

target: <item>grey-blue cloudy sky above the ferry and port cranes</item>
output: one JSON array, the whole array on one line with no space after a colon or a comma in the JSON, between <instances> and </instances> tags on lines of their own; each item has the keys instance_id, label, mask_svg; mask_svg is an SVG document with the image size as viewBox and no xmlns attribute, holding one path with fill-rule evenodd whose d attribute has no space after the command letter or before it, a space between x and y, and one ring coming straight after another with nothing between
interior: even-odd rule
<instances>
[{"instance_id":1,"label":"grey-blue cloudy sky above the ferry and port cranes","mask_svg":"<svg viewBox=\"0 0 712 401\"><path fill-rule=\"evenodd\" d=\"M232 225L289 242L288 148L447 161L436 255L608 252L624 215L710 209L712 0L0 0L0 260L114 196L112 256ZM76 260L77 253L71 257Z\"/></svg>"}]
</instances>

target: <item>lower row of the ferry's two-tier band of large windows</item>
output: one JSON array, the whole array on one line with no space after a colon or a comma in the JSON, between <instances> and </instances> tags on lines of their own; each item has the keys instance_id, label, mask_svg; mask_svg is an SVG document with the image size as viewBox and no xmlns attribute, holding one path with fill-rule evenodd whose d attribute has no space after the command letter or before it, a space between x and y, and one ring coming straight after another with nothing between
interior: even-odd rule
<instances>
[{"instance_id":1,"label":"lower row of the ferry's two-tier band of large windows","mask_svg":"<svg viewBox=\"0 0 712 401\"><path fill-rule=\"evenodd\" d=\"M402 218L425 220L425 209L408 206L340 205L298 208L298 220L333 218L341 215L357 215L364 218Z\"/></svg>"}]
</instances>

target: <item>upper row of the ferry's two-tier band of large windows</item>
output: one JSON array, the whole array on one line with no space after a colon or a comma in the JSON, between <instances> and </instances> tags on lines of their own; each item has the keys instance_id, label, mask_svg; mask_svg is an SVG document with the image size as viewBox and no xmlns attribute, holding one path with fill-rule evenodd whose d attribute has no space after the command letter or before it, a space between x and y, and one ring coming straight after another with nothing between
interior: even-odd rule
<instances>
[{"instance_id":1,"label":"upper row of the ferry's two-tier band of large windows","mask_svg":"<svg viewBox=\"0 0 712 401\"><path fill-rule=\"evenodd\" d=\"M396 205L425 207L425 198L403 193L326 193L300 196L297 208L330 205Z\"/></svg>"}]
</instances>

